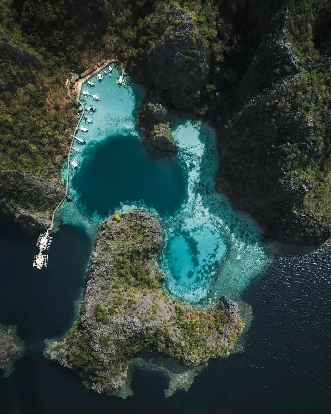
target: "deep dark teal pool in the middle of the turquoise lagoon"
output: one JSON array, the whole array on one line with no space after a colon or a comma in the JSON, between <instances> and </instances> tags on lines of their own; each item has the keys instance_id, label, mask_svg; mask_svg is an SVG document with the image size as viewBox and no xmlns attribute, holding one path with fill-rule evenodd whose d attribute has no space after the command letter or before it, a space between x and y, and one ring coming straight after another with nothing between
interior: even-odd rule
<instances>
[{"instance_id":1,"label":"deep dark teal pool in the middle of the turquoise lagoon","mask_svg":"<svg viewBox=\"0 0 331 414\"><path fill-rule=\"evenodd\" d=\"M72 186L86 214L107 217L126 203L166 215L185 201L187 173L177 158L144 147L137 137L119 135L95 145Z\"/></svg>"}]
</instances>

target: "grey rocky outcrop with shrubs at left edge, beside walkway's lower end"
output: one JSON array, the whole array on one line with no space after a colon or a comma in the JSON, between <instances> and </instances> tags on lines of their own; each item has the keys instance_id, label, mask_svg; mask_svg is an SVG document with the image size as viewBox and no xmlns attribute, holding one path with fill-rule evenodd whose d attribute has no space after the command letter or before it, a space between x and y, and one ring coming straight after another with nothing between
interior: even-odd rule
<instances>
[{"instance_id":1,"label":"grey rocky outcrop with shrubs at left edge, beside walkway's lower end","mask_svg":"<svg viewBox=\"0 0 331 414\"><path fill-rule=\"evenodd\" d=\"M28 231L50 227L53 209L64 195L60 183L22 171L0 171L0 214Z\"/></svg>"}]
</instances>

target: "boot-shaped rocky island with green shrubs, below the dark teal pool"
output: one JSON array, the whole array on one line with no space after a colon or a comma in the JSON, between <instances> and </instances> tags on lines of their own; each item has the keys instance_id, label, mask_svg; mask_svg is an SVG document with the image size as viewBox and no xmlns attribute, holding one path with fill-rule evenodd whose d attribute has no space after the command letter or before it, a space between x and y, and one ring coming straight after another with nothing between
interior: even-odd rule
<instances>
[{"instance_id":1,"label":"boot-shaped rocky island with green shrubs, below the dark teal pool","mask_svg":"<svg viewBox=\"0 0 331 414\"><path fill-rule=\"evenodd\" d=\"M138 351L154 349L197 365L227 355L242 332L238 308L229 299L207 313L163 291L162 274L149 263L161 246L158 219L144 209L103 221L77 323L47 351L99 393L116 394L123 387Z\"/></svg>"}]
</instances>

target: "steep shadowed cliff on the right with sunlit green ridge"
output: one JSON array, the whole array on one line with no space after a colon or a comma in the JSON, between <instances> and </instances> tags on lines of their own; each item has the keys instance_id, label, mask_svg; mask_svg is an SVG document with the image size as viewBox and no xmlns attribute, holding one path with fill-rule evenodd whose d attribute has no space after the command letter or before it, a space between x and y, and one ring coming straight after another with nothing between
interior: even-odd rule
<instances>
[{"instance_id":1,"label":"steep shadowed cliff on the right with sunlit green ridge","mask_svg":"<svg viewBox=\"0 0 331 414\"><path fill-rule=\"evenodd\" d=\"M250 99L222 128L217 188L269 240L313 244L331 236L331 72L293 52L291 18L284 8L240 81L239 101Z\"/></svg>"}]
</instances>

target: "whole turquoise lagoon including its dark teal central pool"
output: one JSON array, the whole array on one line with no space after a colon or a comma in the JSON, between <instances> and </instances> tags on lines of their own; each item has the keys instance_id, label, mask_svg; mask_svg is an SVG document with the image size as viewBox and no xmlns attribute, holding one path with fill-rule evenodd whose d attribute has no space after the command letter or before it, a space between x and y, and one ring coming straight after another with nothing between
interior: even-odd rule
<instances>
[{"instance_id":1,"label":"whole turquoise lagoon including its dark teal central pool","mask_svg":"<svg viewBox=\"0 0 331 414\"><path fill-rule=\"evenodd\" d=\"M74 201L60 207L57 219L81 227L93 240L98 223L115 209L154 209L164 229L158 265L170 294L211 307L221 296L238 298L268 255L257 226L214 189L215 131L206 123L178 119L173 125L177 156L144 145L136 123L144 91L118 87L116 75L105 76L93 89L82 87L101 98L85 101L96 112L88 132L77 134L86 145L75 143L80 151L71 157L79 162L70 171Z\"/></svg>"}]
</instances>

